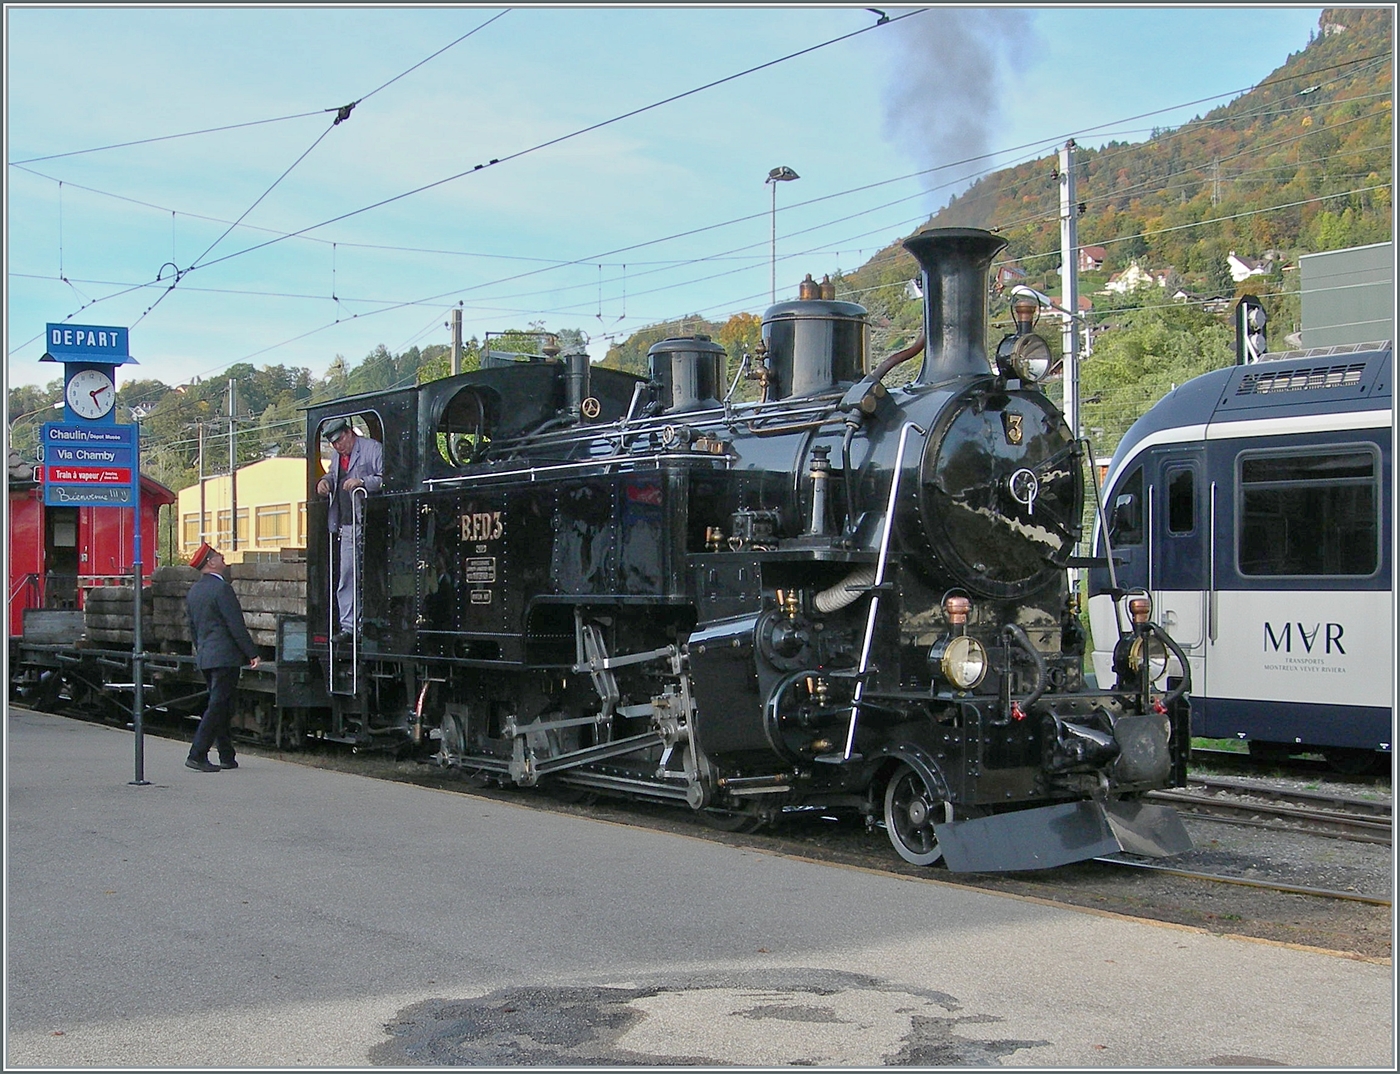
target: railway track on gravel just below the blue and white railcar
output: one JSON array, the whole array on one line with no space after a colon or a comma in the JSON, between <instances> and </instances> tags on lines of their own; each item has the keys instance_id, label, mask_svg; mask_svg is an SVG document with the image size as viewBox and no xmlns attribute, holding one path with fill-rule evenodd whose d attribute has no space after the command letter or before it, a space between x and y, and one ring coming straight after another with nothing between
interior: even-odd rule
<instances>
[{"instance_id":1,"label":"railway track on gravel just below the blue and white railcar","mask_svg":"<svg viewBox=\"0 0 1400 1074\"><path fill-rule=\"evenodd\" d=\"M1392 844L1390 802L1196 776L1186 790L1149 791L1148 797L1224 823Z\"/></svg>"}]
</instances>

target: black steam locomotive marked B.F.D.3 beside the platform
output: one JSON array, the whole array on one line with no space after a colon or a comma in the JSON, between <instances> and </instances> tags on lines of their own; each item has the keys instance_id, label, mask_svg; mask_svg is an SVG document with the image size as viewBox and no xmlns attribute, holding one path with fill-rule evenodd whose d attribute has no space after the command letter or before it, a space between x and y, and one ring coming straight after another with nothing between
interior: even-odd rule
<instances>
[{"instance_id":1,"label":"black steam locomotive marked B.F.D.3 beside the platform","mask_svg":"<svg viewBox=\"0 0 1400 1074\"><path fill-rule=\"evenodd\" d=\"M855 809L916 864L1186 849L1141 801L1184 783L1187 685L1154 683L1172 643L1120 594L1116 682L1086 686L1081 444L1035 384L1030 312L987 357L1005 244L904 245L927 346L897 389L917 350L867 372L865 311L808 293L764 315L759 402L693 336L654 346L648 378L556 353L311 409L308 444L349 417L385 448L353 548L308 463L309 629L279 665L304 661L321 737L729 829ZM329 629L337 556L351 643Z\"/></svg>"}]
</instances>

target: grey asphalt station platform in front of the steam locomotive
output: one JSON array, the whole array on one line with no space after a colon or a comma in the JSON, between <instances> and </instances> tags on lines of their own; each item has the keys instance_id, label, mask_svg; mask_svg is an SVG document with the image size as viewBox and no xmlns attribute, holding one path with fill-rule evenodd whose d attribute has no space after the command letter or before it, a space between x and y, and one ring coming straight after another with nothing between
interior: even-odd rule
<instances>
[{"instance_id":1,"label":"grey asphalt station platform in front of the steam locomotive","mask_svg":"<svg viewBox=\"0 0 1400 1074\"><path fill-rule=\"evenodd\" d=\"M6 718L6 1068L1394 1068L1389 965Z\"/></svg>"}]
</instances>

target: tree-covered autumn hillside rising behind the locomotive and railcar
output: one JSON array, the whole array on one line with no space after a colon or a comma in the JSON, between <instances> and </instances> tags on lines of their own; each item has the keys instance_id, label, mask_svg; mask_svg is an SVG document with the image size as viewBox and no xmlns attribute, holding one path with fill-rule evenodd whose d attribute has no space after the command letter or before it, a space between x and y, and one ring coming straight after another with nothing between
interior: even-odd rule
<instances>
[{"instance_id":1,"label":"tree-covered autumn hillside rising behind the locomotive and railcar","mask_svg":"<svg viewBox=\"0 0 1400 1074\"><path fill-rule=\"evenodd\" d=\"M1233 361L1229 311L1239 294L1263 298L1271 347L1287 349L1287 336L1301 329L1299 255L1390 239L1392 48L1389 8L1327 8L1305 49L1229 104L1179 127L1149 129L1142 141L1077 150L1079 245L1103 251L1102 265L1079 276L1081 301L1092 304L1091 354L1081 365L1084 424L1100 456L1173 385ZM1058 297L1057 168L1050 155L993 172L925 225L997 231L1008 246L994 267L1025 273L1018 283ZM1267 262L1268 273L1236 284L1232 252ZM1106 293L1134 263L1168 286ZM860 269L834 274L837 297L871 312L875 360L923 329L921 302L907 288L917 272L895 242ZM1000 294L991 314L995 343L1011 328ZM699 330L721 343L725 333L738 335L732 319ZM1058 356L1058 321L1046 316L1039 330ZM676 322L644 329L609 360L641 371L647 346L676 333ZM729 351L732 371L738 354ZM890 379L916 367L909 363Z\"/></svg>"}]
</instances>

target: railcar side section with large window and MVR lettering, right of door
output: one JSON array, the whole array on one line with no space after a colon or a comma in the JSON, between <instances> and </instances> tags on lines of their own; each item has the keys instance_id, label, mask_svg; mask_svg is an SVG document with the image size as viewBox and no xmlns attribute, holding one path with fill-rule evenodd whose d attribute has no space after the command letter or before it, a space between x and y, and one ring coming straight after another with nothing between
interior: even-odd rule
<instances>
[{"instance_id":1,"label":"railcar side section with large window and MVR lettering, right of door","mask_svg":"<svg viewBox=\"0 0 1400 1074\"><path fill-rule=\"evenodd\" d=\"M1211 737L1390 748L1389 442L1383 426L1219 442Z\"/></svg>"}]
</instances>

